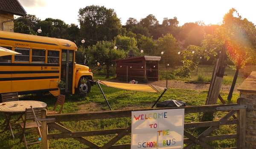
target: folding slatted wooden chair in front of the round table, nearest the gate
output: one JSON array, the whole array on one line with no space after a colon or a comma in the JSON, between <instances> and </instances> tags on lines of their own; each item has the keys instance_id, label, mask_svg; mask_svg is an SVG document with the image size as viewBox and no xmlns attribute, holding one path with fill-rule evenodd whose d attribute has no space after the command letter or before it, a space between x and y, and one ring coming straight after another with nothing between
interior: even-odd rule
<instances>
[{"instance_id":1,"label":"folding slatted wooden chair in front of the round table, nearest the gate","mask_svg":"<svg viewBox=\"0 0 256 149\"><path fill-rule=\"evenodd\" d=\"M26 149L28 149L29 145L32 144L36 144L36 143L41 143L41 131L40 131L40 127L41 127L41 123L40 121L38 121L39 118L41 118L41 110L44 108L33 108L32 106L30 106L31 108L26 109L25 111L25 117L24 117L24 123L20 123L20 127L22 129L22 133L20 136L20 142L22 140L24 140ZM32 139L26 139L25 134L33 132L33 131L27 131L27 129L35 129L36 132L38 132L38 135L40 138L32 138ZM32 141L33 142L28 142L28 141Z\"/></svg>"}]
</instances>

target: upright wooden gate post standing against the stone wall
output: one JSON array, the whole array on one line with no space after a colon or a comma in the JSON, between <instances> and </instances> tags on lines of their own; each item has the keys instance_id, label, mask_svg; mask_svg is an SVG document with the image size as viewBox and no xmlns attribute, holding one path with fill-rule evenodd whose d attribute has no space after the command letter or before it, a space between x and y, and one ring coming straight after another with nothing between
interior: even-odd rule
<instances>
[{"instance_id":1,"label":"upright wooden gate post standing against the stone wall","mask_svg":"<svg viewBox=\"0 0 256 149\"><path fill-rule=\"evenodd\" d=\"M237 103L240 106L246 106L246 100L239 98ZM237 147L238 149L245 149L245 135L246 135L246 109L240 109L237 112L238 124L237 124Z\"/></svg>"}]
</instances>

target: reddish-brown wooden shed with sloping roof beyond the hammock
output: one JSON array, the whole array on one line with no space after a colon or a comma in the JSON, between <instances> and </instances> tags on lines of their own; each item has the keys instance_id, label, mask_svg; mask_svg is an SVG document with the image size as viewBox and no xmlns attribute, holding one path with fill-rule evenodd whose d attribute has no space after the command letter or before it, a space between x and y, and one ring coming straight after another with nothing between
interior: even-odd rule
<instances>
[{"instance_id":1,"label":"reddish-brown wooden shed with sloping roof beyond the hammock","mask_svg":"<svg viewBox=\"0 0 256 149\"><path fill-rule=\"evenodd\" d=\"M116 77L123 80L159 80L160 56L131 57L116 62Z\"/></svg>"}]
</instances>

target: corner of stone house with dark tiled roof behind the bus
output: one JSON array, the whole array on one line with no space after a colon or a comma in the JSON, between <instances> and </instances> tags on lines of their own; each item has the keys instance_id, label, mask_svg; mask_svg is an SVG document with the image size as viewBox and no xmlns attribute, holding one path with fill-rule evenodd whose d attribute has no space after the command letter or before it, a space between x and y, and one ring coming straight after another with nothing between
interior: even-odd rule
<instances>
[{"instance_id":1,"label":"corner of stone house with dark tiled roof behind the bus","mask_svg":"<svg viewBox=\"0 0 256 149\"><path fill-rule=\"evenodd\" d=\"M0 31L14 32L14 15L26 16L18 0L0 0Z\"/></svg>"}]
</instances>

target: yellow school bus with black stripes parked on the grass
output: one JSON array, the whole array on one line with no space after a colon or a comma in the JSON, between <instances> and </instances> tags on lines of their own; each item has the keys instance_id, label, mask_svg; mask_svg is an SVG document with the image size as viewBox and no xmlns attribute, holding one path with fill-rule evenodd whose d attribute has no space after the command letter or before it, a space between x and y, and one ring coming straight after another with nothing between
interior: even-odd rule
<instances>
[{"instance_id":1,"label":"yellow school bus with black stripes parked on the grass","mask_svg":"<svg viewBox=\"0 0 256 149\"><path fill-rule=\"evenodd\" d=\"M75 43L0 31L0 46L21 53L0 57L0 94L50 92L58 96L60 80L64 82L61 92L90 92L93 73L75 63Z\"/></svg>"}]
</instances>

